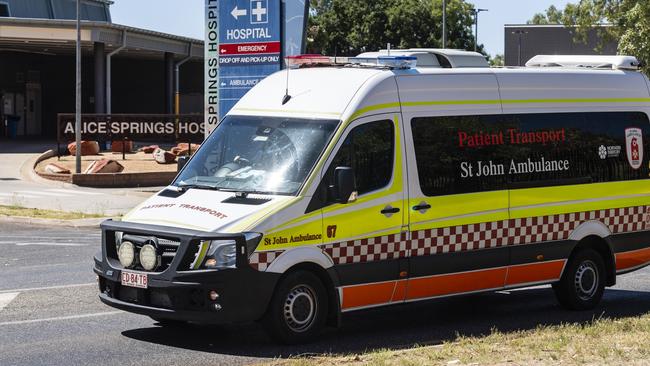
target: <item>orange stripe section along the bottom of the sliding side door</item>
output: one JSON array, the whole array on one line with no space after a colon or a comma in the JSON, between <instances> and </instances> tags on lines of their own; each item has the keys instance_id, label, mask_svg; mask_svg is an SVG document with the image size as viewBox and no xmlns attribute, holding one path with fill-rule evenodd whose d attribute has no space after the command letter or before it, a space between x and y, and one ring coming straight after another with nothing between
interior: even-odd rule
<instances>
[{"instance_id":1,"label":"orange stripe section along the bottom of the sliding side door","mask_svg":"<svg viewBox=\"0 0 650 366\"><path fill-rule=\"evenodd\" d=\"M506 268L495 268L476 272L413 278L409 280L406 299L413 300L502 288L506 273Z\"/></svg>"}]
</instances>

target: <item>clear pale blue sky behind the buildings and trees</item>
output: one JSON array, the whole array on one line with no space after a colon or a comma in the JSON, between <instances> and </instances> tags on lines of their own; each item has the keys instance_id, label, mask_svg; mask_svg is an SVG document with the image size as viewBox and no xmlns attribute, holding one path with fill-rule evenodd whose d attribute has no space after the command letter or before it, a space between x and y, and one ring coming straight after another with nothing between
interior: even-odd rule
<instances>
[{"instance_id":1,"label":"clear pale blue sky behind the buildings and trees","mask_svg":"<svg viewBox=\"0 0 650 366\"><path fill-rule=\"evenodd\" d=\"M203 39L204 0L114 0L113 22ZM372 1L372 0L369 0ZM568 0L469 0L488 9L479 15L479 43L490 55L503 54L504 24L520 24L549 6L564 8Z\"/></svg>"}]
</instances>

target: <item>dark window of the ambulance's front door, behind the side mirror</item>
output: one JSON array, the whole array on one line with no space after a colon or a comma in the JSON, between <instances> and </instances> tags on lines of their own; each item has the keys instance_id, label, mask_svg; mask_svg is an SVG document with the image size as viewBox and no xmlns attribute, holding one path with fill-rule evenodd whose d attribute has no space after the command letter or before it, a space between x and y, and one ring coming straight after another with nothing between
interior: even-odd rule
<instances>
[{"instance_id":1,"label":"dark window of the ambulance's front door, behind the side mirror","mask_svg":"<svg viewBox=\"0 0 650 366\"><path fill-rule=\"evenodd\" d=\"M341 145L327 172L336 167L354 168L359 194L385 187L393 175L395 134L393 122L371 122L355 127Z\"/></svg>"}]
</instances>

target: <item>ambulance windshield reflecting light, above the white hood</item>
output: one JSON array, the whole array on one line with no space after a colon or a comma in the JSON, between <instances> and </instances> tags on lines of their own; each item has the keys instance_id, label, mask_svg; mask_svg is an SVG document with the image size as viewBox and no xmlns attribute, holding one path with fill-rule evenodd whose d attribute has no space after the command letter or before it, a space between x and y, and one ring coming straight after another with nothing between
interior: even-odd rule
<instances>
[{"instance_id":1,"label":"ambulance windshield reflecting light, above the white hood","mask_svg":"<svg viewBox=\"0 0 650 366\"><path fill-rule=\"evenodd\" d=\"M227 116L174 185L294 195L337 125L335 120Z\"/></svg>"}]
</instances>

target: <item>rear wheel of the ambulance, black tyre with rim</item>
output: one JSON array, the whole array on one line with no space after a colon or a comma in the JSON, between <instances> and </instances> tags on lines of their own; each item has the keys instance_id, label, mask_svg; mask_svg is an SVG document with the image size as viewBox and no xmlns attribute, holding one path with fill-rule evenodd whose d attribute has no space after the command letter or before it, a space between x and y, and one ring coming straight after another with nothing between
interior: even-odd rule
<instances>
[{"instance_id":1,"label":"rear wheel of the ambulance, black tyre with rim","mask_svg":"<svg viewBox=\"0 0 650 366\"><path fill-rule=\"evenodd\" d=\"M569 259L560 282L553 284L553 290L564 308L590 310L603 297L605 280L603 258L593 249L582 249Z\"/></svg>"}]
</instances>

